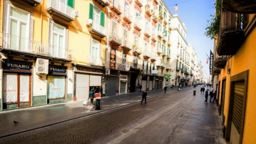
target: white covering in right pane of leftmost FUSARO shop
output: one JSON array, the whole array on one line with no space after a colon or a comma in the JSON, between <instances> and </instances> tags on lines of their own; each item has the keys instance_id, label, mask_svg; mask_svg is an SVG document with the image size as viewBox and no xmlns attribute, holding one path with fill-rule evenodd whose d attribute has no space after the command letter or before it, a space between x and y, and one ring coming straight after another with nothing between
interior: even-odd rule
<instances>
[{"instance_id":1,"label":"white covering in right pane of leftmost FUSARO shop","mask_svg":"<svg viewBox=\"0 0 256 144\"><path fill-rule=\"evenodd\" d=\"M20 75L20 102L29 101L29 76Z\"/></svg>"}]
</instances>

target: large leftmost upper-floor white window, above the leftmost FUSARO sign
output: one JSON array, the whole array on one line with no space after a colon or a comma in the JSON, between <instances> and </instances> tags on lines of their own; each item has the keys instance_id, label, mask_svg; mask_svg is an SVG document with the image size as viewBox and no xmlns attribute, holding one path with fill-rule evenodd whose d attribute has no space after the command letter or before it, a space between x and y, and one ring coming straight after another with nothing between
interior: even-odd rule
<instances>
[{"instance_id":1,"label":"large leftmost upper-floor white window, above the leftmost FUSARO sign","mask_svg":"<svg viewBox=\"0 0 256 144\"><path fill-rule=\"evenodd\" d=\"M28 51L30 13L11 6L8 8L7 13L10 15L6 25L7 33L10 34L10 48Z\"/></svg>"}]
</instances>

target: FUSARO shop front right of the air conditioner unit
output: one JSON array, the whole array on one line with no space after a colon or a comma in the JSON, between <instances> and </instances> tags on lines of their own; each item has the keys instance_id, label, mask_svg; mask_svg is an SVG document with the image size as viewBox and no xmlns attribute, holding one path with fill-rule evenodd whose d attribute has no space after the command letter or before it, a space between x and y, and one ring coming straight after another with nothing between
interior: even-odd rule
<instances>
[{"instance_id":1,"label":"FUSARO shop front right of the air conditioner unit","mask_svg":"<svg viewBox=\"0 0 256 144\"><path fill-rule=\"evenodd\" d=\"M49 65L47 76L47 104L66 101L67 67Z\"/></svg>"}]
</instances>

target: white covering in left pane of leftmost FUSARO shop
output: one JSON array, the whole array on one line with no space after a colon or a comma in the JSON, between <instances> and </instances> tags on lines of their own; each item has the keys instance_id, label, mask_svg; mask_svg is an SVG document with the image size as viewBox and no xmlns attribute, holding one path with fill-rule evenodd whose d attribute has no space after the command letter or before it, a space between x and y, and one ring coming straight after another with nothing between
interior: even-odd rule
<instances>
[{"instance_id":1,"label":"white covering in left pane of leftmost FUSARO shop","mask_svg":"<svg viewBox=\"0 0 256 144\"><path fill-rule=\"evenodd\" d=\"M3 74L3 103L17 102L17 74Z\"/></svg>"}]
</instances>

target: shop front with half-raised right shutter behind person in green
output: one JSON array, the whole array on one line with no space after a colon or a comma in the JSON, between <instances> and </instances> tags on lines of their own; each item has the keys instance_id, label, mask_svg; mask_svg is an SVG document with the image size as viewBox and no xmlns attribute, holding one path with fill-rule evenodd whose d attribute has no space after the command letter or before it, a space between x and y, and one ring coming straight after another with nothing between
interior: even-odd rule
<instances>
[{"instance_id":1,"label":"shop front with half-raised right shutter behind person in green","mask_svg":"<svg viewBox=\"0 0 256 144\"><path fill-rule=\"evenodd\" d=\"M101 83L104 72L102 68L75 65L74 72L74 101L88 98L91 89L96 93L96 97L101 97Z\"/></svg>"}]
</instances>

